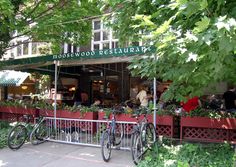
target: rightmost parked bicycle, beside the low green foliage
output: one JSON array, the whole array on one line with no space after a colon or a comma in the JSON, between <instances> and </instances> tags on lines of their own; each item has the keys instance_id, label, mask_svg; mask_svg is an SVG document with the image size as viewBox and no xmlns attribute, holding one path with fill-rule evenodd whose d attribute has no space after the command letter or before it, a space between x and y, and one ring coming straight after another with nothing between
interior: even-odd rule
<instances>
[{"instance_id":1,"label":"rightmost parked bicycle, beside the low green foliage","mask_svg":"<svg viewBox=\"0 0 236 167\"><path fill-rule=\"evenodd\" d=\"M156 141L156 130L153 123L148 122L147 108L138 109L138 113L133 115L137 119L137 125L133 128L131 135L131 154L135 165L143 158L143 155ZM139 118L143 114L140 121Z\"/></svg>"}]
</instances>

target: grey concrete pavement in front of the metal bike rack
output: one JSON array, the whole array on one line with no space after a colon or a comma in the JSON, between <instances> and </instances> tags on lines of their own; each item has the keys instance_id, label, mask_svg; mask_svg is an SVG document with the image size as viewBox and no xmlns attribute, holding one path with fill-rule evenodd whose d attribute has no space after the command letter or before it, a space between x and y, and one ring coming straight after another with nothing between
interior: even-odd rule
<instances>
[{"instance_id":1,"label":"grey concrete pavement in front of the metal bike rack","mask_svg":"<svg viewBox=\"0 0 236 167\"><path fill-rule=\"evenodd\" d=\"M133 167L130 151L112 150L104 162L98 147L45 142L19 150L0 149L0 167Z\"/></svg>"}]
</instances>

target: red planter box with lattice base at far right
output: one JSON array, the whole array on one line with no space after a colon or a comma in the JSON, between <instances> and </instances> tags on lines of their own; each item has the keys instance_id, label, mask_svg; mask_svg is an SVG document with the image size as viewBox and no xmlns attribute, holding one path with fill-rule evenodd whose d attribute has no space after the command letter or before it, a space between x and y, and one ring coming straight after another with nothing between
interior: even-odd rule
<instances>
[{"instance_id":1,"label":"red planter box with lattice base at far right","mask_svg":"<svg viewBox=\"0 0 236 167\"><path fill-rule=\"evenodd\" d=\"M182 117L180 139L236 143L236 119Z\"/></svg>"}]
</instances>

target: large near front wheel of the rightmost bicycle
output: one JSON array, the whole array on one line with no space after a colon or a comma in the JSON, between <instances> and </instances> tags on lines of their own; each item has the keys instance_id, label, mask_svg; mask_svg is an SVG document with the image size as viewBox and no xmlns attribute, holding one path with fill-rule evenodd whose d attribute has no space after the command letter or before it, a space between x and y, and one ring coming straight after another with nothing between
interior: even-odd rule
<instances>
[{"instance_id":1,"label":"large near front wheel of the rightmost bicycle","mask_svg":"<svg viewBox=\"0 0 236 167\"><path fill-rule=\"evenodd\" d=\"M143 146L140 133L136 131L131 136L131 154L132 154L132 160L135 165L138 165L138 163L143 157L142 147Z\"/></svg>"}]
</instances>

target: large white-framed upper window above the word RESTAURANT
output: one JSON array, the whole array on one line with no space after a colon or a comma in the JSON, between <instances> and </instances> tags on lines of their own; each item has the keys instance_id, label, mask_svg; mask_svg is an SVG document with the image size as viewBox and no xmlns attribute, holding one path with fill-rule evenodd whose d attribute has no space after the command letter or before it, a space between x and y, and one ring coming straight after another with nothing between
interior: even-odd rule
<instances>
[{"instance_id":1,"label":"large white-framed upper window above the word RESTAURANT","mask_svg":"<svg viewBox=\"0 0 236 167\"><path fill-rule=\"evenodd\" d=\"M118 47L118 39L101 20L93 20L93 38L91 50L111 49Z\"/></svg>"}]
</instances>

